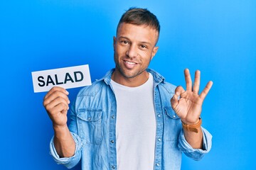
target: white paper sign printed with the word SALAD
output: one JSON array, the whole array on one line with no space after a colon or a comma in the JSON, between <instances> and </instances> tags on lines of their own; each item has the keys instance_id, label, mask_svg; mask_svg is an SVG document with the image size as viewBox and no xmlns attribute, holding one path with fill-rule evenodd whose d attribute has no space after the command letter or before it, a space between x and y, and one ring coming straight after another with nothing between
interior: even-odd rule
<instances>
[{"instance_id":1,"label":"white paper sign printed with the word SALAD","mask_svg":"<svg viewBox=\"0 0 256 170\"><path fill-rule=\"evenodd\" d=\"M53 86L70 89L92 84L88 64L32 72L32 79L35 93L49 91Z\"/></svg>"}]
</instances>

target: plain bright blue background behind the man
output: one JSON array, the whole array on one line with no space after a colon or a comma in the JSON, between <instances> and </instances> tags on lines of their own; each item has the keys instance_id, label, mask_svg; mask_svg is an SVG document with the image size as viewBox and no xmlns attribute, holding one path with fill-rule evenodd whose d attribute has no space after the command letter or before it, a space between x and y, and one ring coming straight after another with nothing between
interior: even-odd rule
<instances>
[{"instance_id":1,"label":"plain bright blue background behind the man","mask_svg":"<svg viewBox=\"0 0 256 170\"><path fill-rule=\"evenodd\" d=\"M254 0L1 0L1 169L65 169L49 155L46 93L33 93L31 72L90 64L100 79L114 67L112 38L131 6L161 23L151 68L176 85L185 68L201 70L201 89L213 80L202 113L212 150L200 162L184 156L182 169L256 169Z\"/></svg>"}]
</instances>

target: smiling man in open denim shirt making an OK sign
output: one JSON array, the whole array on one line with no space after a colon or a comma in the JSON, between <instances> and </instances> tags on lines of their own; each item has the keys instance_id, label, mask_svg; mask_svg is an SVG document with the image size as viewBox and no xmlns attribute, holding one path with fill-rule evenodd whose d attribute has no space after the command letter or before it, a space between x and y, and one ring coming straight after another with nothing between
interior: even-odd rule
<instances>
[{"instance_id":1,"label":"smiling man in open denim shirt making an OK sign","mask_svg":"<svg viewBox=\"0 0 256 170\"><path fill-rule=\"evenodd\" d=\"M159 21L130 8L114 37L115 69L79 92L67 125L68 91L54 87L43 105L53 121L50 152L58 164L82 169L180 169L181 153L201 159L211 147L201 128L201 108L212 81L199 95L185 69L186 91L148 69L158 50ZM171 101L170 101L171 100Z\"/></svg>"}]
</instances>

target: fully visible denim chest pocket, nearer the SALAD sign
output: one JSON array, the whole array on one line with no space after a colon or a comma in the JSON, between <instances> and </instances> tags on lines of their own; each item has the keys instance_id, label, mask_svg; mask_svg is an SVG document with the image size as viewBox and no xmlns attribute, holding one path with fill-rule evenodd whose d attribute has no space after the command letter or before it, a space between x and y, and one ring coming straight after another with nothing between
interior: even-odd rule
<instances>
[{"instance_id":1,"label":"fully visible denim chest pocket, nearer the SALAD sign","mask_svg":"<svg viewBox=\"0 0 256 170\"><path fill-rule=\"evenodd\" d=\"M82 142L99 145L102 141L102 110L80 108L78 132Z\"/></svg>"}]
</instances>

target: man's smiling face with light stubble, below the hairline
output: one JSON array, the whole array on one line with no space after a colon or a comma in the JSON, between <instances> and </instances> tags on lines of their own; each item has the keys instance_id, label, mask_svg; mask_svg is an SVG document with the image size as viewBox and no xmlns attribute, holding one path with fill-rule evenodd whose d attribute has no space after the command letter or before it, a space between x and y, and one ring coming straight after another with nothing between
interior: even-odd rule
<instances>
[{"instance_id":1,"label":"man's smiling face with light stubble, below the hairline","mask_svg":"<svg viewBox=\"0 0 256 170\"><path fill-rule=\"evenodd\" d=\"M147 79L145 69L156 54L159 33L149 26L122 23L114 37L115 75L118 79ZM138 79L137 79L138 80ZM142 80L142 81L143 81Z\"/></svg>"}]
</instances>

